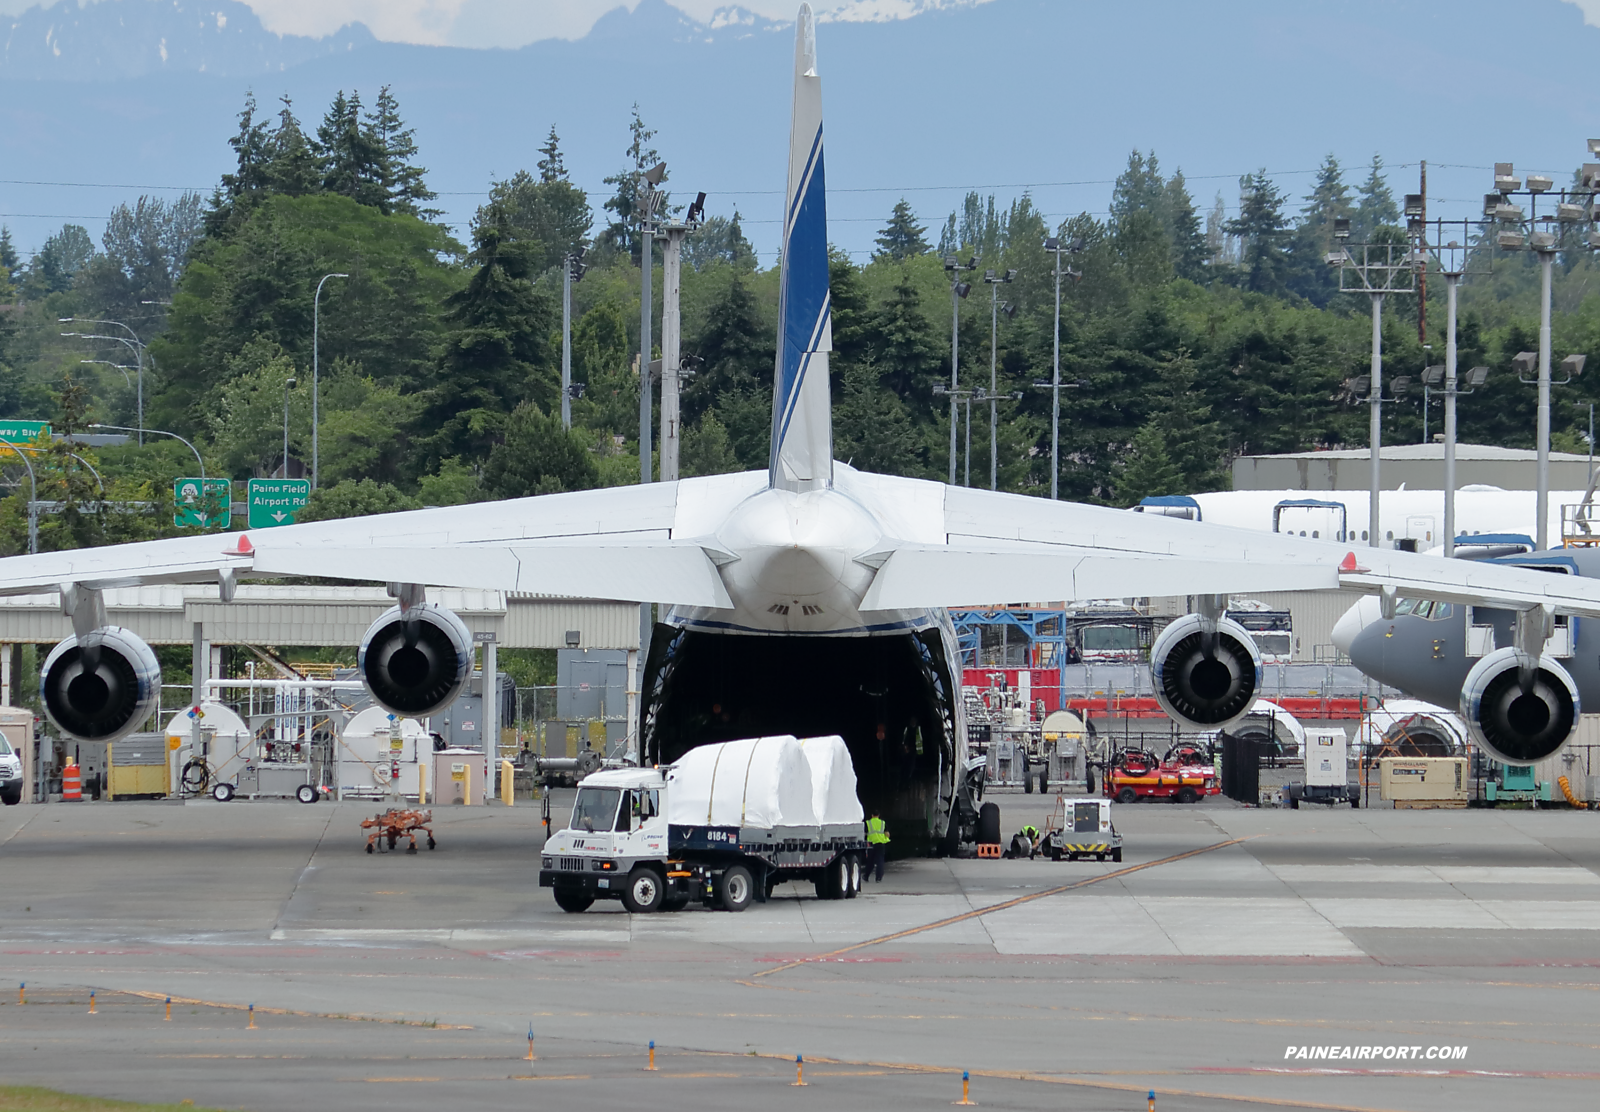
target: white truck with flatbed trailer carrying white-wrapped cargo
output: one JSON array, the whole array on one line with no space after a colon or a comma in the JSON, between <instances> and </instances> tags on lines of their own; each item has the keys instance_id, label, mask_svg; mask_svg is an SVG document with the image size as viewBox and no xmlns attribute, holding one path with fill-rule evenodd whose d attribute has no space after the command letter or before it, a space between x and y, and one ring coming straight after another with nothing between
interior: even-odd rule
<instances>
[{"instance_id":1,"label":"white truck with flatbed trailer carrying white-wrapped cargo","mask_svg":"<svg viewBox=\"0 0 1600 1112\"><path fill-rule=\"evenodd\" d=\"M621 899L630 912L691 899L739 912L786 880L819 899L861 891L867 829L842 738L726 741L664 768L584 778L565 830L550 835L539 886L562 910Z\"/></svg>"}]
</instances>

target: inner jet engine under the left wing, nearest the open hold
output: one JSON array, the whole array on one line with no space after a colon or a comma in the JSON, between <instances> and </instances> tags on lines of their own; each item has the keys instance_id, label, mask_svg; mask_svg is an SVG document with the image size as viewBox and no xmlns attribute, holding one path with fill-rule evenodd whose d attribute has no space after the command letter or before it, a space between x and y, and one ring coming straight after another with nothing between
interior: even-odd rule
<instances>
[{"instance_id":1,"label":"inner jet engine under the left wing, nearest the open hold","mask_svg":"<svg viewBox=\"0 0 1600 1112\"><path fill-rule=\"evenodd\" d=\"M426 718L443 710L472 675L472 630L454 611L419 603L373 622L355 658L362 682L384 710Z\"/></svg>"}]
</instances>

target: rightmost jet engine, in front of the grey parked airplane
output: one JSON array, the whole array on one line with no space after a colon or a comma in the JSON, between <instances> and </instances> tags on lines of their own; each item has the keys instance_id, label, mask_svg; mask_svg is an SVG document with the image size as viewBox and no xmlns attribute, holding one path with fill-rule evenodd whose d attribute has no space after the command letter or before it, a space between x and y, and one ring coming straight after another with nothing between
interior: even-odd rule
<instances>
[{"instance_id":1,"label":"rightmost jet engine, in front of the grey parked airplane","mask_svg":"<svg viewBox=\"0 0 1600 1112\"><path fill-rule=\"evenodd\" d=\"M1498 648L1467 672L1461 717L1472 741L1502 765L1533 765L1554 757L1578 725L1578 685L1552 656L1541 656L1533 690L1522 690L1523 654Z\"/></svg>"}]
</instances>

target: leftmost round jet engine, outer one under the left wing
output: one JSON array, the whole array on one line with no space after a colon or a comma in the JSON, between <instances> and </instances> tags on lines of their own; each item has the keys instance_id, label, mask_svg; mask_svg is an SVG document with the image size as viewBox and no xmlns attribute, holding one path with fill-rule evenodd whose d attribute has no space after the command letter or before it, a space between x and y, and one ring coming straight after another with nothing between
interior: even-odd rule
<instances>
[{"instance_id":1,"label":"leftmost round jet engine, outer one under the left wing","mask_svg":"<svg viewBox=\"0 0 1600 1112\"><path fill-rule=\"evenodd\" d=\"M131 630L106 626L56 645L38 672L38 690L45 714L61 733L117 741L155 710L162 666Z\"/></svg>"}]
</instances>

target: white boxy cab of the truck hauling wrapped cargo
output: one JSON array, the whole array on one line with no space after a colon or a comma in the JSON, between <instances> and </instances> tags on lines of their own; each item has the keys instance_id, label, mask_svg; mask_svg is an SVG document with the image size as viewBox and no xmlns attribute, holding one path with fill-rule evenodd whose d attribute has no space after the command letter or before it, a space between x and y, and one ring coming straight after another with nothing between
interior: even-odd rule
<instances>
[{"instance_id":1,"label":"white boxy cab of the truck hauling wrapped cargo","mask_svg":"<svg viewBox=\"0 0 1600 1112\"><path fill-rule=\"evenodd\" d=\"M666 776L654 768L611 768L586 776L566 829L544 843L539 886L554 888L555 902L565 910L573 910L570 904L584 910L595 899L621 899L629 910L654 910L666 902L670 910L664 789ZM656 877L659 891L643 891L650 878L638 875L638 869ZM630 877L640 882L632 886L642 890L634 899L626 883Z\"/></svg>"}]
</instances>

